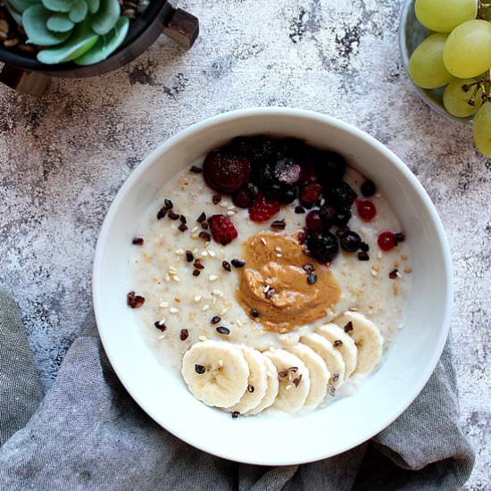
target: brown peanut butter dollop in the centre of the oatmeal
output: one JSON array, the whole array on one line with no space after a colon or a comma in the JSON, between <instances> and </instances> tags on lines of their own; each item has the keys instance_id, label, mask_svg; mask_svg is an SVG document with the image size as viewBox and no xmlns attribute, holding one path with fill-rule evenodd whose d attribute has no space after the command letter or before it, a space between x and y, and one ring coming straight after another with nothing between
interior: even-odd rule
<instances>
[{"instance_id":1,"label":"brown peanut butter dollop in the centre of the oatmeal","mask_svg":"<svg viewBox=\"0 0 491 491\"><path fill-rule=\"evenodd\" d=\"M332 272L304 254L296 235L257 234L243 245L245 267L239 272L237 301L252 319L274 332L286 333L325 317L340 296ZM312 284L304 270L308 263L314 264L317 276Z\"/></svg>"}]
</instances>

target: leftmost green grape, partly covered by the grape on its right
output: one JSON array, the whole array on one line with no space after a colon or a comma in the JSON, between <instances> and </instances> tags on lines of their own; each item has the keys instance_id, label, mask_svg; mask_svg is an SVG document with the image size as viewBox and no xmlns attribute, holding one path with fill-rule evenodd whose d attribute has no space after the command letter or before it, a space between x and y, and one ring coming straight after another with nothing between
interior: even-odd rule
<instances>
[{"instance_id":1,"label":"leftmost green grape, partly covered by the grape on its right","mask_svg":"<svg viewBox=\"0 0 491 491\"><path fill-rule=\"evenodd\" d=\"M408 65L412 81L423 88L437 88L446 85L452 75L445 69L443 51L448 35L432 34L418 46L411 55Z\"/></svg>"}]
</instances>

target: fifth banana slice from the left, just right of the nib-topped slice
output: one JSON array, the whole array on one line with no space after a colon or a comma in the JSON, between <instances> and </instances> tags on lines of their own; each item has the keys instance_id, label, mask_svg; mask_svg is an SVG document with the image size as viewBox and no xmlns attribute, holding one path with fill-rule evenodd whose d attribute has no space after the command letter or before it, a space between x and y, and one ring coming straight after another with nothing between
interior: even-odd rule
<instances>
[{"instance_id":1,"label":"fifth banana slice from the left, just right of the nib-topped slice","mask_svg":"<svg viewBox=\"0 0 491 491\"><path fill-rule=\"evenodd\" d=\"M287 351L298 356L305 363L309 370L311 379L311 390L305 400L305 407L314 409L317 407L326 396L326 388L328 387L330 373L326 362L320 358L320 355L315 353L312 348L302 343L293 346L288 346Z\"/></svg>"}]
</instances>

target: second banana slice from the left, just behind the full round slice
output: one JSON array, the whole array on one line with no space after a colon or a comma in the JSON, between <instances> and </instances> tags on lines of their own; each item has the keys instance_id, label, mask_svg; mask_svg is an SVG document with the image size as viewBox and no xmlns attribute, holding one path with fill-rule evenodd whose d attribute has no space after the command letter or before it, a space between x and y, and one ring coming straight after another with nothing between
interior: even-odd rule
<instances>
[{"instance_id":1,"label":"second banana slice from the left, just behind the full round slice","mask_svg":"<svg viewBox=\"0 0 491 491\"><path fill-rule=\"evenodd\" d=\"M247 380L247 390L237 404L227 408L227 411L238 411L241 414L254 409L261 403L266 390L268 389L268 378L266 376L266 358L259 351L247 346L240 346L244 354L245 362L249 365L249 379Z\"/></svg>"}]
</instances>

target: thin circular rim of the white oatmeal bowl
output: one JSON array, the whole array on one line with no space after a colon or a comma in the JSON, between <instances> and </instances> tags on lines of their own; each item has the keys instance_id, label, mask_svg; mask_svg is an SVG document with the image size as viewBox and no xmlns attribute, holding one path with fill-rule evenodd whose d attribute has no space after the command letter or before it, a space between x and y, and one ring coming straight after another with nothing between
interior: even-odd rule
<instances>
[{"instance_id":1,"label":"thin circular rim of the white oatmeal bowl","mask_svg":"<svg viewBox=\"0 0 491 491\"><path fill-rule=\"evenodd\" d=\"M254 460L254 458L242 460L240 456L237 455L230 457L230 451L228 451L227 449L223 449L223 448L216 449L208 442L204 442L200 440L200 438L196 437L195 435L183 435L179 431L174 431L174 429L168 429L166 425L160 422L161 420L159 420L159 414L156 411L154 411L153 408L148 407L146 405L146 402L139 397L137 391L135 391L132 387L129 387L126 384L125 380L120 378L120 375L118 373L118 367L113 365L111 345L108 344L108 339L105 336L104 329L100 329L98 323L99 320L102 318L102 313L99 312L102 312L104 308L104 305L101 302L99 302L99 298L102 297L102 295L100 295L99 293L101 288L101 279L100 279L99 271L101 270L101 264L103 261L104 245L105 242L108 240L108 236L112 227L112 221L114 220L116 213L118 212L118 208L120 207L122 201L125 199L125 196L129 191L129 189L133 187L133 185L137 182L140 176L146 172L146 170L153 164L155 160L159 159L159 157L162 154L165 154L168 151L168 149L171 148L171 146L176 145L178 142L185 140L189 137L193 137L196 133L199 133L204 129L209 129L214 125L219 125L237 119L256 117L262 115L264 116L273 115L279 118L284 116L306 118L306 119L318 121L322 124L327 124L328 126L331 127L334 126L337 127L337 129L341 129L351 134L354 137L358 137L362 139L364 143L366 143L369 146L375 147L375 149L377 149L381 154L384 154L384 156L387 157L387 160L392 162L395 165L395 167L398 169L398 171L402 172L404 174L404 177L411 182L414 191L419 195L425 208L429 212L430 219L433 222L433 225L435 226L438 245L441 248L443 254L443 262L445 264L445 268L443 271L446 279L444 316L441 320L441 329L439 329L437 343L434 345L431 359L426 365L426 370L424 371L424 373L421 374L420 383L417 384L411 392L407 393L407 395L405 396L402 402L400 402L399 404L395 404L392 412L387 412L387 418L385 418L383 424L380 424L376 428L371 429L371 431L368 432L369 433L368 436L363 435L362 440L357 440L355 443L344 445L343 447L338 448L335 452L332 451L331 452L323 451L320 453L317 452L317 454L313 456L311 454L309 456L300 459L292 458L289 457L288 455L285 456L279 455L278 457L275 458L271 457L269 461L265 461L265 460L258 461L258 460ZM412 171L410 171L409 168L404 164L404 162L402 162L391 150L387 148L387 146L384 146L377 139L371 137L370 135L362 131L362 129L358 129L353 125L346 123L345 121L337 120L336 118L322 114L320 112L287 108L287 107L262 107L262 108L252 107L252 108L240 109L232 112L224 112L219 115L212 116L211 118L207 118L204 121L196 122L195 124L192 124L186 129L180 130L177 134L168 138L162 144L157 146L154 149L154 151L148 154L146 158L143 160L143 162L141 162L137 166L137 168L131 172L128 179L125 180L120 190L118 191L117 195L115 196L114 200L112 201L112 204L104 218L104 222L100 230L99 237L97 239L96 254L93 263L93 280L92 280L94 312L96 315L97 329L99 332L99 336L101 337L102 345L104 346L104 351L107 354L109 361L111 362L112 369L115 371L116 375L118 376L118 379L121 381L121 384L123 385L123 387L126 388L126 390L129 392L129 395L131 395L133 400L140 406L140 408L142 408L146 412L146 414L148 414L163 429L166 429L166 431L169 431L175 437L178 437L180 440L186 442L189 445L193 445L199 450L202 450L208 454L216 455L224 459L233 460L235 462L243 462L243 463L257 464L257 465L269 465L269 466L273 466L273 465L284 466L284 465L294 465L294 464L301 464L307 462L317 462L322 459L329 458L337 454L341 454L347 450L354 448L356 445L361 445L363 442L370 440L370 438L374 437L380 431L386 429L387 426L389 426L392 422L394 422L394 420L397 419L407 409L407 407L410 404L412 404L414 399L420 394L420 391L422 390L423 387L426 386L431 374L433 373L433 371L437 366L437 362L439 361L440 356L445 347L445 342L448 337L448 333L450 329L450 320L451 320L452 304L453 304L453 292L454 292L454 286L452 282L452 260L450 254L450 246L448 244L448 240L445 235L445 230L442 221L440 220L435 205L431 202L428 193L426 192L424 187L422 187L420 181L414 176L414 174L412 174Z\"/></svg>"}]
</instances>

